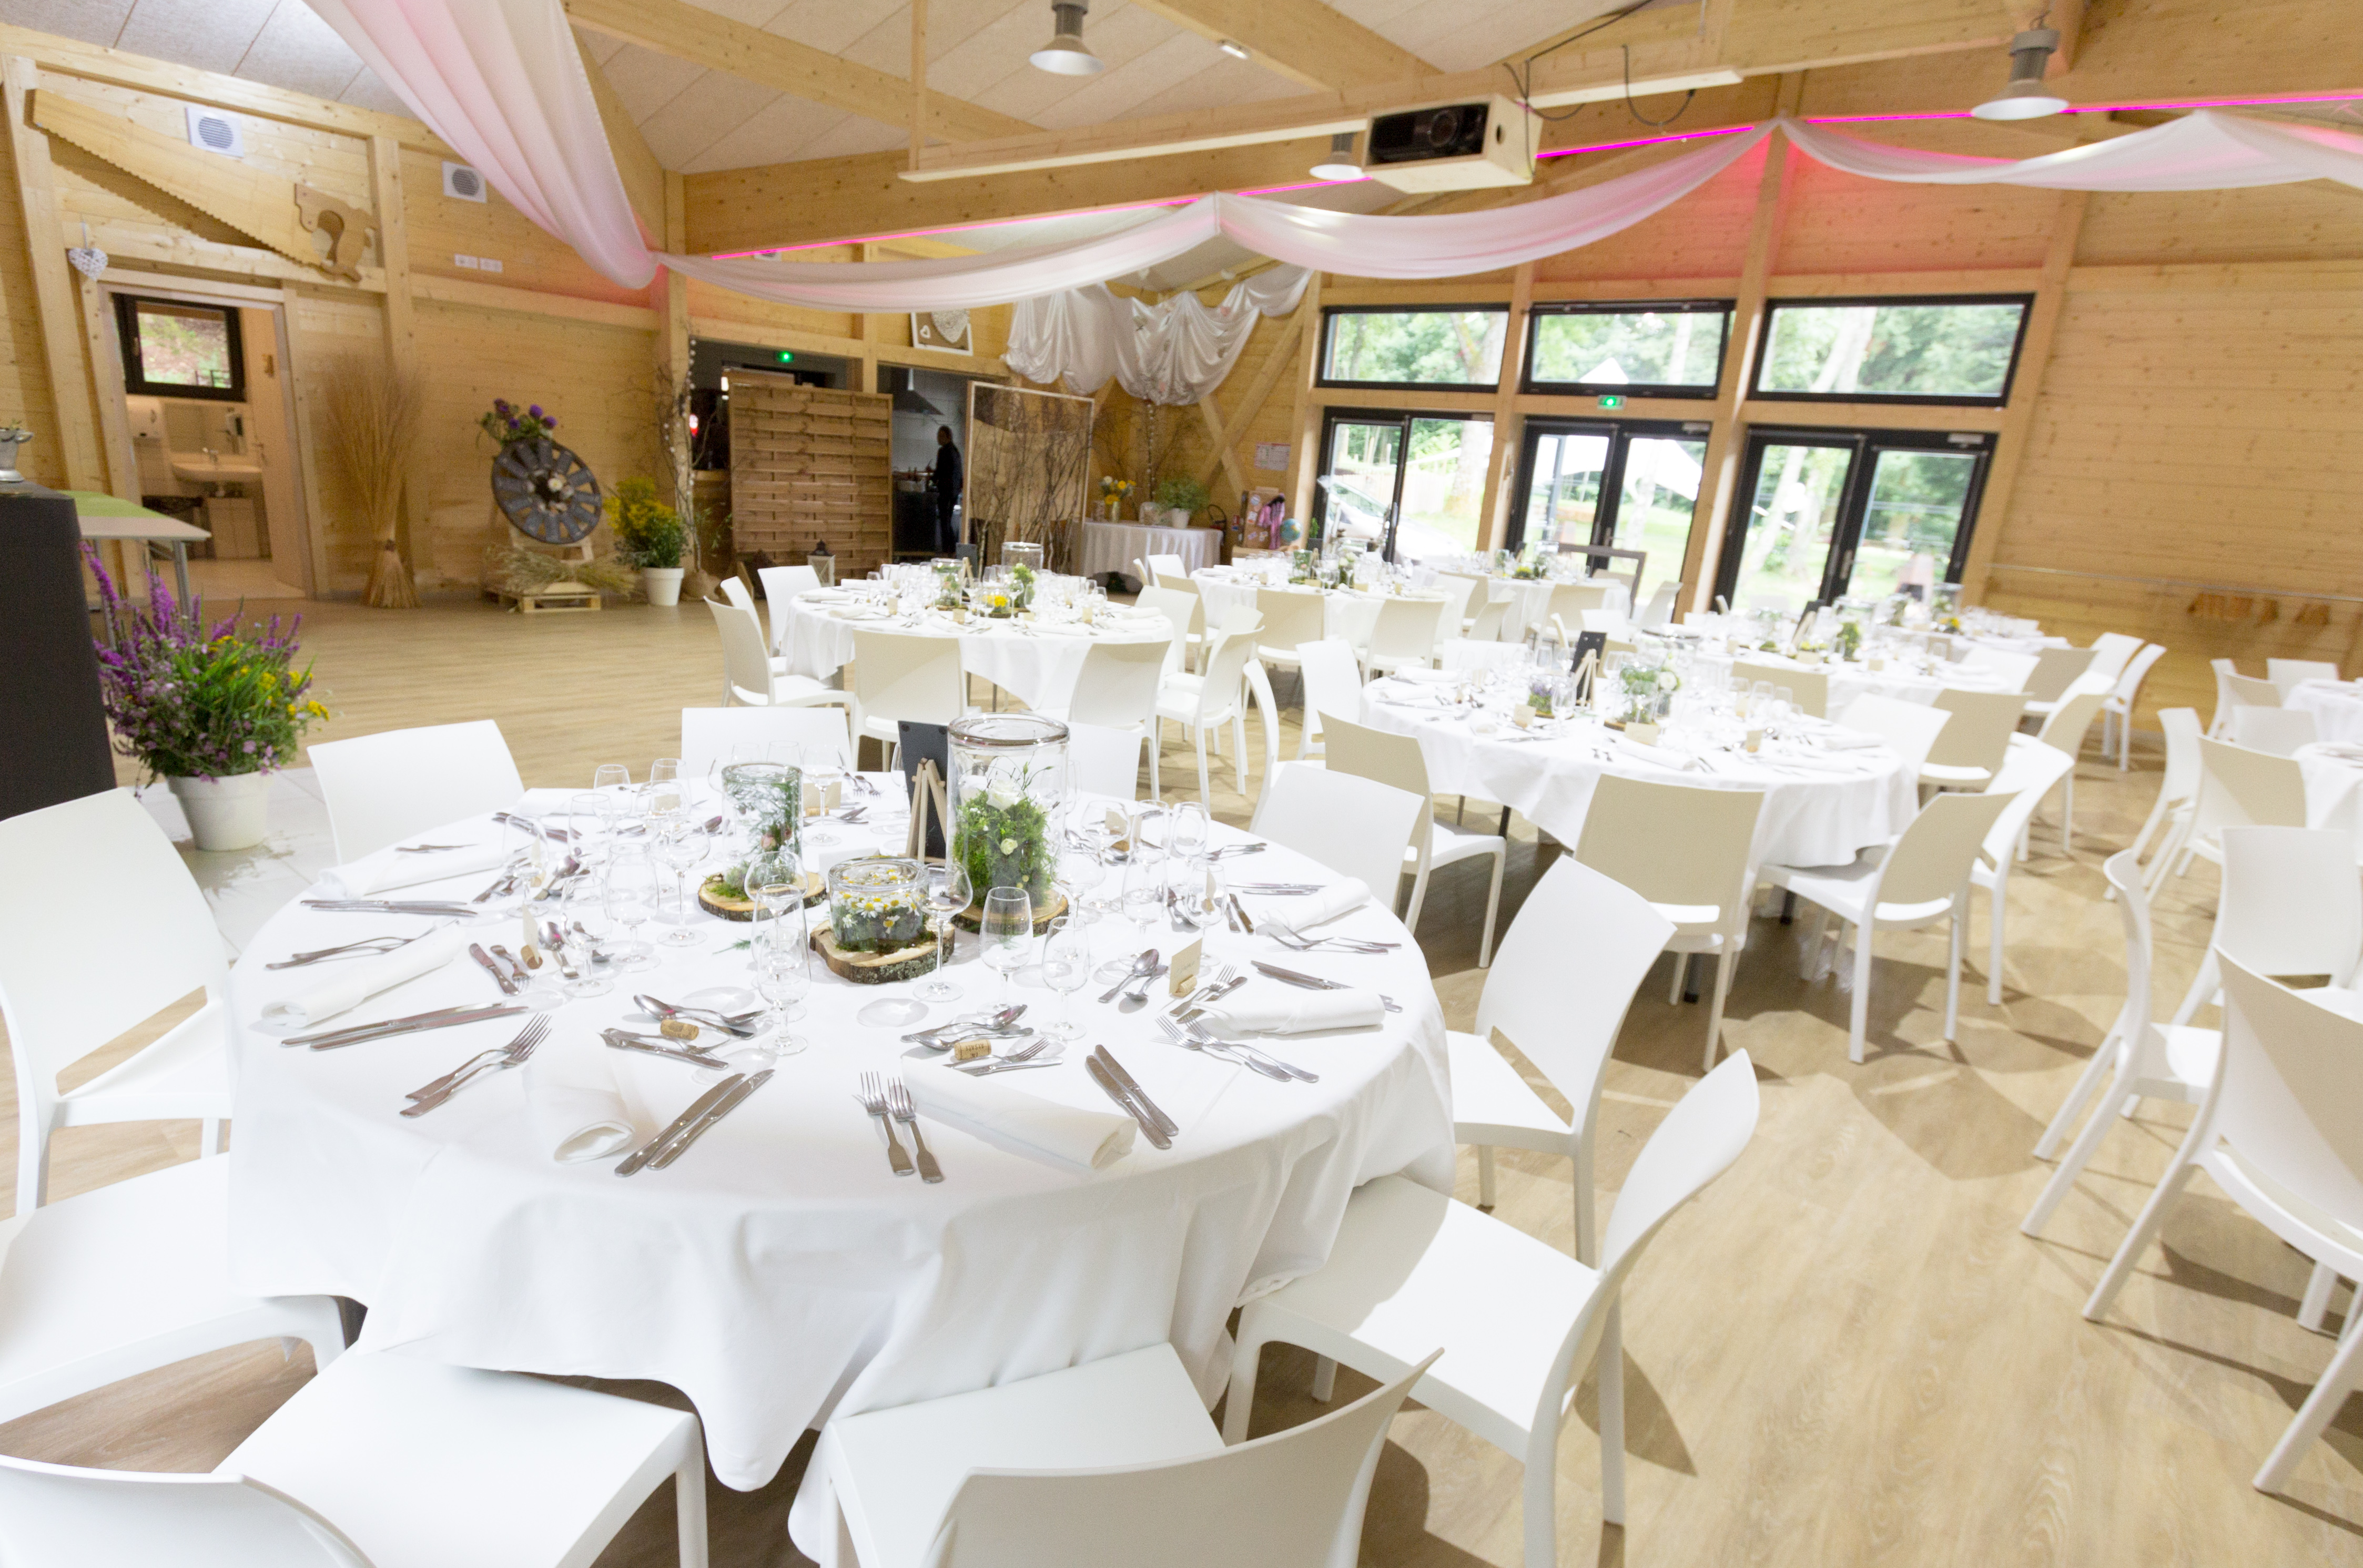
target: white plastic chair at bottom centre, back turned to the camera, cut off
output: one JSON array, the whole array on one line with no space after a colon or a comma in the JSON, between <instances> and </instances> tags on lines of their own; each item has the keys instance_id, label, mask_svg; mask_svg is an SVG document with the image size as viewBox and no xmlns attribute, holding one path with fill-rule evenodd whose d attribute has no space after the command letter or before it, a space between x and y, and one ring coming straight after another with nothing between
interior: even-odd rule
<instances>
[{"instance_id":1,"label":"white plastic chair at bottom centre, back turned to the camera, cut off","mask_svg":"<svg viewBox=\"0 0 2363 1568\"><path fill-rule=\"evenodd\" d=\"M1434 1355L1233 1448L1167 1344L839 1417L837 1566L1354 1568L1387 1424Z\"/></svg>"}]
</instances>

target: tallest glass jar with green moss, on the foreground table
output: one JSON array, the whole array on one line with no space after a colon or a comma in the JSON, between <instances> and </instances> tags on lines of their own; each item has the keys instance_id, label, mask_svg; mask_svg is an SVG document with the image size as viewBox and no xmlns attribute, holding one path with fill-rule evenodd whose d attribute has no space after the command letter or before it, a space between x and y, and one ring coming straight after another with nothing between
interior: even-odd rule
<instances>
[{"instance_id":1,"label":"tallest glass jar with green moss, on the foreground table","mask_svg":"<svg viewBox=\"0 0 2363 1568\"><path fill-rule=\"evenodd\" d=\"M955 919L976 930L992 888L1018 888L1040 933L1066 912L1056 890L1059 824L1066 819L1066 725L1035 713L955 718L950 763L950 855L969 871L974 902Z\"/></svg>"}]
</instances>

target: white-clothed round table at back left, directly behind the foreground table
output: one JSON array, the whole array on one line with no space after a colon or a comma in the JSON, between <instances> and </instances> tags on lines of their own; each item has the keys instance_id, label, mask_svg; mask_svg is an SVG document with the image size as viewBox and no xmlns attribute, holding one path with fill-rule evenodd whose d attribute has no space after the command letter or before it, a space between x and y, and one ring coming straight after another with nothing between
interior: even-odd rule
<instances>
[{"instance_id":1,"label":"white-clothed round table at back left, directly behind the foreground table","mask_svg":"<svg viewBox=\"0 0 2363 1568\"><path fill-rule=\"evenodd\" d=\"M1118 605L1108 609L1106 619L1106 626L1078 626L969 616L966 626L955 626L952 616L933 609L886 616L855 595L820 588L789 600L780 652L787 656L792 675L827 680L853 664L855 628L931 638L957 635L959 666L969 675L983 675L1028 708L1063 708L1075 697L1075 678L1094 642L1172 640L1172 623L1156 612L1132 612Z\"/></svg>"}]
</instances>

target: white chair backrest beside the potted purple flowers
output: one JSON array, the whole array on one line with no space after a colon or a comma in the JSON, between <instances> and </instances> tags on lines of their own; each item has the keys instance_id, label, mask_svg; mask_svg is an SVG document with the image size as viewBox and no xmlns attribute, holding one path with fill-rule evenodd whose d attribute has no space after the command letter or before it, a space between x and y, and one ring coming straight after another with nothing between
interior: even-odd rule
<instances>
[{"instance_id":1,"label":"white chair backrest beside the potted purple flowers","mask_svg":"<svg viewBox=\"0 0 2363 1568\"><path fill-rule=\"evenodd\" d=\"M310 758L345 864L421 829L510 808L525 793L501 725L489 718L321 741Z\"/></svg>"}]
</instances>

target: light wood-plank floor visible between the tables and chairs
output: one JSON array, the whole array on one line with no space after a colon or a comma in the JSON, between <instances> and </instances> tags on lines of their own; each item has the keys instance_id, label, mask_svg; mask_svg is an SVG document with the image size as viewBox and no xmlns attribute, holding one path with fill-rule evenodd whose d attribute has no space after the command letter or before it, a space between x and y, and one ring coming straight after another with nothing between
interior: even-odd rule
<instances>
[{"instance_id":1,"label":"light wood-plank floor visible between the tables and chairs","mask_svg":"<svg viewBox=\"0 0 2363 1568\"><path fill-rule=\"evenodd\" d=\"M305 642L336 708L314 739L496 718L527 784L586 784L605 760L643 770L673 751L678 708L714 701L721 685L702 607L522 619L328 605L307 612ZM1191 793L1179 741L1165 760L1167 791ZM1727 1039L1756 1058L1763 1126L1633 1278L1626 1530L1600 1525L1590 1389L1578 1396L1560 1452L1562 1563L2363 1563L2363 1403L2349 1400L2287 1497L2247 1485L2330 1360L2330 1339L2292 1320L2302 1256L2200 1178L2110 1322L2079 1318L2186 1112L2124 1122L2049 1235L2018 1233L2049 1171L2030 1148L2122 999L2117 916L2098 902L2096 867L2131 838L2155 786L2155 760L2124 782L2082 765L2077 852L2063 857L2058 834L2037 829L2037 857L2011 878L2006 1001L1987 1008L1973 968L1957 1044L1940 1037L1938 937L1881 937L1871 1058L1853 1067L1846 982L1798 980L1803 923L1756 923ZM1224 770L1217 812L1245 822L1248 805ZM1538 874L1531 829L1515 834L1503 921ZM1420 928L1458 1027L1484 978L1482 895L1482 867L1453 869ZM2191 978L2212 900L2205 867L2162 897L2162 1006ZM1704 1015L1668 1006L1666 980L1661 961L1609 1063L1602 1204L1699 1074ZM12 1145L14 1108L0 1110ZM194 1124L76 1129L57 1143L57 1193L194 1152ZM9 1169L12 1148L0 1150ZM1460 1195L1477 1195L1467 1152ZM1498 1211L1569 1247L1567 1162L1505 1152ZM210 1469L307 1372L305 1351L293 1365L276 1346L208 1355L0 1426L0 1452ZM1307 1358L1274 1351L1255 1429L1309 1417L1307 1384ZM1340 1379L1340 1391L1359 1386ZM808 1452L811 1440L761 1492L709 1485L718 1566L803 1561L782 1518ZM671 1563L669 1525L659 1495L600 1563ZM1406 1410L1363 1561L1508 1566L1517 1542L1517 1462Z\"/></svg>"}]
</instances>

